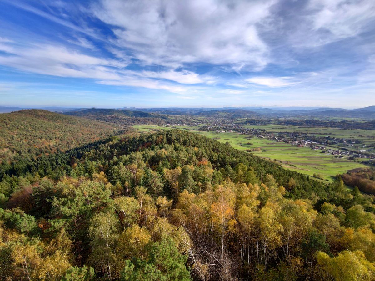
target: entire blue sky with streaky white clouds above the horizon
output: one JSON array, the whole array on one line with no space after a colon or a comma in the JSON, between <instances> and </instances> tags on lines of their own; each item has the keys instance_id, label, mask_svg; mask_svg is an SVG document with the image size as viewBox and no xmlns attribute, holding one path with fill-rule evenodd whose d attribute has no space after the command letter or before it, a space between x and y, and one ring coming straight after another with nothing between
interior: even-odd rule
<instances>
[{"instance_id":1,"label":"entire blue sky with streaky white clouds above the horizon","mask_svg":"<svg viewBox=\"0 0 375 281\"><path fill-rule=\"evenodd\" d=\"M374 0L0 1L0 106L371 105Z\"/></svg>"}]
</instances>

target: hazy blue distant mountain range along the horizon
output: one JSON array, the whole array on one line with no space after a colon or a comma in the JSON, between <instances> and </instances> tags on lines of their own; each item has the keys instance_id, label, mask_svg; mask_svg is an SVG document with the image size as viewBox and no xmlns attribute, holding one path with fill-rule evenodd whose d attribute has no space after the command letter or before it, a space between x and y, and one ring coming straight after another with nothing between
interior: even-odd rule
<instances>
[{"instance_id":1,"label":"hazy blue distant mountain range along the horizon","mask_svg":"<svg viewBox=\"0 0 375 281\"><path fill-rule=\"evenodd\" d=\"M26 108L0 107L0 113L12 112ZM330 107L121 107L117 109L103 108L70 108L70 107L43 107L38 109L60 112L66 115L88 117L90 119L103 120L104 116L116 116L123 118L160 118L166 119L165 115L195 115L227 118L279 118L279 117L350 117L375 119L375 106L358 109L343 109ZM104 120L103 120L104 121Z\"/></svg>"}]
</instances>

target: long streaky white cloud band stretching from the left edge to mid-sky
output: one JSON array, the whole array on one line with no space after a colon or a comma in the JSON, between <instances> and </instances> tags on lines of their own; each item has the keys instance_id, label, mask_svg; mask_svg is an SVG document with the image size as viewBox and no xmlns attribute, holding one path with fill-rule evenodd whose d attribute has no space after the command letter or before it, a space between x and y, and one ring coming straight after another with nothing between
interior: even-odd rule
<instances>
[{"instance_id":1,"label":"long streaky white cloud band stretching from the left edge to mid-sky","mask_svg":"<svg viewBox=\"0 0 375 281\"><path fill-rule=\"evenodd\" d=\"M211 82L213 77L199 76L192 71L130 71L122 60L102 59L76 50L55 45L17 45L4 49L11 55L1 56L0 64L38 74L61 77L95 79L97 83L117 86L133 86L160 89L174 93L186 92L183 86L155 79L165 79L180 84Z\"/></svg>"}]
</instances>

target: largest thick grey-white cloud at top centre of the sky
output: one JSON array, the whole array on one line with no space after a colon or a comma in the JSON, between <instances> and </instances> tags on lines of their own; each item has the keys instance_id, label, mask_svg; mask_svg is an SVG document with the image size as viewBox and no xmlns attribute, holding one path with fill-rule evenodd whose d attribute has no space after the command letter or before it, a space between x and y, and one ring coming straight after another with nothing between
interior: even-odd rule
<instances>
[{"instance_id":1,"label":"largest thick grey-white cloud at top centre of the sky","mask_svg":"<svg viewBox=\"0 0 375 281\"><path fill-rule=\"evenodd\" d=\"M102 0L93 13L115 26L113 43L146 65L231 64L263 68L269 49L256 25L270 14L267 1Z\"/></svg>"}]
</instances>

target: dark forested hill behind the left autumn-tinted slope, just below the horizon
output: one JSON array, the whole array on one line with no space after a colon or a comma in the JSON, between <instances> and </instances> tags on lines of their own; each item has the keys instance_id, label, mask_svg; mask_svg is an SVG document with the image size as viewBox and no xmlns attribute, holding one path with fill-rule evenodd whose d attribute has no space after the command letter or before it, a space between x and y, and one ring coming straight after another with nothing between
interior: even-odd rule
<instances>
[{"instance_id":1,"label":"dark forested hill behind the left autumn-tinted slope, just below the horizon","mask_svg":"<svg viewBox=\"0 0 375 281\"><path fill-rule=\"evenodd\" d=\"M69 111L63 114L119 124L165 124L169 119L165 115L156 113L103 108Z\"/></svg>"}]
</instances>

